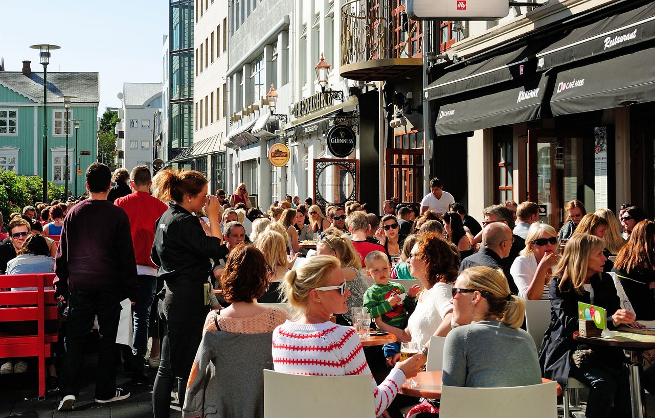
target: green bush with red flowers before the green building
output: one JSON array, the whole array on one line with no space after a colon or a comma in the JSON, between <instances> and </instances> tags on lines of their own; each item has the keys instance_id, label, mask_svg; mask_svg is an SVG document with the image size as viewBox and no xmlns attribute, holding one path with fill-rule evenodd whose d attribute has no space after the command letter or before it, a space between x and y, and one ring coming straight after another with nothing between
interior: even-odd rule
<instances>
[{"instance_id":1,"label":"green bush with red flowers before the green building","mask_svg":"<svg viewBox=\"0 0 655 418\"><path fill-rule=\"evenodd\" d=\"M48 181L48 202L58 199L64 186ZM43 180L32 175L17 175L14 171L0 169L0 209L5 219L14 211L22 211L27 205L43 200Z\"/></svg>"}]
</instances>

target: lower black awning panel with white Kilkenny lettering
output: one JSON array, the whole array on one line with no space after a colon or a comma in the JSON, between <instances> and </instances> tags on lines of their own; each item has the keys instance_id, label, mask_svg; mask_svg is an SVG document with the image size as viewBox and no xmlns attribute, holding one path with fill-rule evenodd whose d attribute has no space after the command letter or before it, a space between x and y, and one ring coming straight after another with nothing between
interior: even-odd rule
<instances>
[{"instance_id":1,"label":"lower black awning panel with white Kilkenny lettering","mask_svg":"<svg viewBox=\"0 0 655 418\"><path fill-rule=\"evenodd\" d=\"M436 113L436 133L451 135L538 119L547 81L547 75L536 75L487 89L482 96L443 103Z\"/></svg>"}]
</instances>

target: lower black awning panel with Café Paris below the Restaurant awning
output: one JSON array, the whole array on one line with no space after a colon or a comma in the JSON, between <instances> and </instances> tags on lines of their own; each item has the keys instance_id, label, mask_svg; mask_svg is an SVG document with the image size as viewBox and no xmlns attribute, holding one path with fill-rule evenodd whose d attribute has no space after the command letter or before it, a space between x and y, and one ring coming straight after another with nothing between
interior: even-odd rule
<instances>
[{"instance_id":1,"label":"lower black awning panel with Caf\u00e9 Paris below the Restaurant awning","mask_svg":"<svg viewBox=\"0 0 655 418\"><path fill-rule=\"evenodd\" d=\"M655 101L655 48L557 73L553 116Z\"/></svg>"}]
</instances>

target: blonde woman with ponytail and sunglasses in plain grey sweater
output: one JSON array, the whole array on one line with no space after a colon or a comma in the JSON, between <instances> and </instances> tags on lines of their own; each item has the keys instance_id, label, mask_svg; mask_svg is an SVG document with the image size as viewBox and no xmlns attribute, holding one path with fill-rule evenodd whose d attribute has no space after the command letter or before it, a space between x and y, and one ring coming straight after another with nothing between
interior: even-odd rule
<instances>
[{"instance_id":1,"label":"blonde woman with ponytail and sunglasses in plain grey sweater","mask_svg":"<svg viewBox=\"0 0 655 418\"><path fill-rule=\"evenodd\" d=\"M443 349L443 385L512 387L541 383L536 347L519 329L525 302L501 271L468 268L453 288L453 321Z\"/></svg>"}]
</instances>

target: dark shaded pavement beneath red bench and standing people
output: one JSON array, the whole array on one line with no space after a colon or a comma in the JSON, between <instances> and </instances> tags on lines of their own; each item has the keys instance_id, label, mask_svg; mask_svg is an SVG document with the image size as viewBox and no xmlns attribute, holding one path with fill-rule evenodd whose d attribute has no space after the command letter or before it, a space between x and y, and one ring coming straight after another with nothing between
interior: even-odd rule
<instances>
[{"instance_id":1,"label":"dark shaded pavement beneath red bench and standing people","mask_svg":"<svg viewBox=\"0 0 655 418\"><path fill-rule=\"evenodd\" d=\"M45 400L38 400L36 365L29 362L30 370L27 374L0 375L0 417L54 417L54 418L80 418L80 417L152 417L153 382L157 370L149 369L146 373L150 377L148 385L132 388L131 375L119 369L117 385L131 392L125 400L111 402L110 404L96 404L94 402L95 376L98 372L98 355L86 354L84 368L81 374L80 396L75 402L73 411L57 411L59 394L49 391ZM177 398L171 405L171 416L179 417Z\"/></svg>"}]
</instances>

